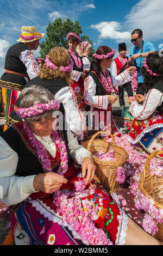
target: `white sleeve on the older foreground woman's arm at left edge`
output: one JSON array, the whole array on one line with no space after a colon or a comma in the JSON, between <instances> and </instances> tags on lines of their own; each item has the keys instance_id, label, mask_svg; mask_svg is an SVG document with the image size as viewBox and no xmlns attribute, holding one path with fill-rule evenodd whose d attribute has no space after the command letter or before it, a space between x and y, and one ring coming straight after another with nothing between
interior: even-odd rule
<instances>
[{"instance_id":1,"label":"white sleeve on the older foreground woman's arm at left edge","mask_svg":"<svg viewBox=\"0 0 163 256\"><path fill-rule=\"evenodd\" d=\"M0 137L0 188L3 192L1 200L6 205L20 203L36 192L33 188L35 175L15 176L17 163L17 153Z\"/></svg>"}]
</instances>

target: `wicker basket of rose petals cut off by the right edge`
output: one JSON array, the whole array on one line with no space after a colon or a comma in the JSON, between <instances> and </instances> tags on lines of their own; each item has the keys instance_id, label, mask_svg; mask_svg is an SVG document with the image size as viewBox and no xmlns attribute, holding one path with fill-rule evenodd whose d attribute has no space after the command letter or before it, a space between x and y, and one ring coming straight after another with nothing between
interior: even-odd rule
<instances>
[{"instance_id":1,"label":"wicker basket of rose petals cut off by the right edge","mask_svg":"<svg viewBox=\"0 0 163 256\"><path fill-rule=\"evenodd\" d=\"M139 181L139 188L145 196L149 199L153 199L156 208L163 210L163 176L157 176L155 178L155 175L151 175L149 166L152 157L162 153L163 151L156 150L148 156ZM158 224L158 229L159 231L154 235L154 237L163 241L163 223Z\"/></svg>"}]
</instances>

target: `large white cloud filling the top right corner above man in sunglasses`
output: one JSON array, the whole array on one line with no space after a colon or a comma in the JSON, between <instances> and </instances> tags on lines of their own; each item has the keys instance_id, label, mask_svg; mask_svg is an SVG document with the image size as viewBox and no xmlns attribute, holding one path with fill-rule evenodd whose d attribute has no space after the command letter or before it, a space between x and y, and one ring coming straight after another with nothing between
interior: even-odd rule
<instances>
[{"instance_id":1,"label":"large white cloud filling the top right corner above man in sunglasses","mask_svg":"<svg viewBox=\"0 0 163 256\"><path fill-rule=\"evenodd\" d=\"M124 26L132 32L136 28L143 31L146 40L163 39L163 2L162 0L141 0L125 17Z\"/></svg>"}]
</instances>

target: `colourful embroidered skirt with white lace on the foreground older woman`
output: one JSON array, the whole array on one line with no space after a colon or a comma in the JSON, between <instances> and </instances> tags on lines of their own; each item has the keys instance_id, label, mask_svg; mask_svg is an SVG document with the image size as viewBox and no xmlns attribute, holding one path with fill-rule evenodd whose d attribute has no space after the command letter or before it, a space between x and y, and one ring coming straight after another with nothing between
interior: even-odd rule
<instances>
[{"instance_id":1,"label":"colourful embroidered skirt with white lace on the foreground older woman","mask_svg":"<svg viewBox=\"0 0 163 256\"><path fill-rule=\"evenodd\" d=\"M78 193L74 190L74 182L83 179L80 172L75 176L76 178L69 180L60 188L62 196L71 192L70 198L78 197ZM90 190L90 193L86 195L87 190ZM116 194L109 195L101 185L92 180L91 184L84 188L83 196L80 197L81 205L85 205L86 199L91 205L99 206L97 218L92 221L93 225L97 229L104 230L106 239L110 240L113 245L124 245L128 217L120 208ZM12 232L16 245L91 245L90 240L87 240L88 237L96 243L95 239L93 240L92 230L88 228L86 230L88 234L78 233L77 223L70 224L69 221L65 221L63 212L58 211L59 206L55 205L53 200L53 194L33 193L28 200L23 201L17 207L17 210L11 212ZM82 209L87 211L84 207ZM83 211L81 210L81 216ZM69 214L66 218L67 216L69 218ZM79 215L78 218L80 219L81 216ZM103 244L103 242L98 243L98 245Z\"/></svg>"}]
</instances>

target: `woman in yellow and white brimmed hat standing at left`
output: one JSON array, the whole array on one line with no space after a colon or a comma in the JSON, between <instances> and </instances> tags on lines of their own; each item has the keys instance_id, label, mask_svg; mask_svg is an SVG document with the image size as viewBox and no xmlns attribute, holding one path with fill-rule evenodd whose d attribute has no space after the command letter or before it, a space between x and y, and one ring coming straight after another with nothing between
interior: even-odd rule
<instances>
[{"instance_id":1,"label":"woman in yellow and white brimmed hat standing at left","mask_svg":"<svg viewBox=\"0 0 163 256\"><path fill-rule=\"evenodd\" d=\"M32 50L37 50L39 40L45 34L38 33L36 27L22 27L18 43L12 45L5 56L5 72L0 80L0 87L5 104L5 120L15 106L18 95L24 85L39 74L39 68ZM6 90L7 89L7 90ZM8 127L9 120L7 120ZM4 128L6 129L6 127Z\"/></svg>"}]
</instances>

